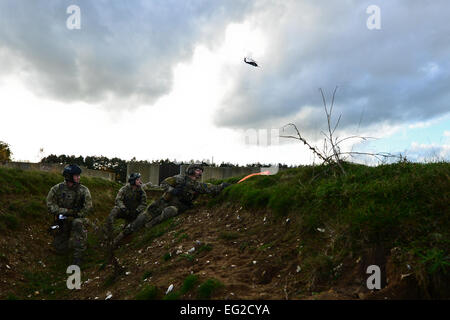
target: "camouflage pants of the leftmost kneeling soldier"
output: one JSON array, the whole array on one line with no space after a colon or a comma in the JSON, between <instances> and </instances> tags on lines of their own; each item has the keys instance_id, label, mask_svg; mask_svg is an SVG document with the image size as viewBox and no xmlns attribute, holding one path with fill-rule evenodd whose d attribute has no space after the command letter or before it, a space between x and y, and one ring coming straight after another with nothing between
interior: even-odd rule
<instances>
[{"instance_id":1,"label":"camouflage pants of the leftmost kneeling soldier","mask_svg":"<svg viewBox=\"0 0 450 320\"><path fill-rule=\"evenodd\" d=\"M86 251L87 229L86 220L83 218L64 220L62 228L53 239L53 247L59 254L64 254L68 249L73 249L74 258L81 258Z\"/></svg>"}]
</instances>

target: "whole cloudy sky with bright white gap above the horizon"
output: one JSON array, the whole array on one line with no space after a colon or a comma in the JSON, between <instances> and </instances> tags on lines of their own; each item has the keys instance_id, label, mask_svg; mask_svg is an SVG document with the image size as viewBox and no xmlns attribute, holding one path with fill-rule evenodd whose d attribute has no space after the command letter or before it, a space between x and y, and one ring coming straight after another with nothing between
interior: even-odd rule
<instances>
[{"instance_id":1,"label":"whole cloudy sky with bright white gap above the horizon","mask_svg":"<svg viewBox=\"0 0 450 320\"><path fill-rule=\"evenodd\" d=\"M449 11L447 0L2 0L0 140L33 162L304 164L313 155L279 128L322 148L319 88L330 105L338 87L335 137L377 138L341 150L449 160Z\"/></svg>"}]
</instances>

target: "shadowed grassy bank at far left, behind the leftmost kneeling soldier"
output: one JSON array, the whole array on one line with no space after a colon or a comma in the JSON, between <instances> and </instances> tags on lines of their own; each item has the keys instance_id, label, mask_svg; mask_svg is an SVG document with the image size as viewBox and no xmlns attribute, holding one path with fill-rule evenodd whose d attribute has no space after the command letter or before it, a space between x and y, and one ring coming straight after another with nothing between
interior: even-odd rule
<instances>
[{"instance_id":1,"label":"shadowed grassy bank at far left, behind the leftmost kneeling soldier","mask_svg":"<svg viewBox=\"0 0 450 320\"><path fill-rule=\"evenodd\" d=\"M41 298L43 295L61 298L59 294L67 291L63 279L70 256L49 255L51 246L47 245L51 241L47 228L52 217L47 212L46 197L50 188L61 181L63 177L56 173L0 168L0 234L1 240L6 241L1 248L0 262L3 267L11 265L7 270L11 273L8 284L15 283L13 288L5 287L8 292L3 292L2 298ZM89 188L93 199L94 211L89 218L100 226L111 210L120 185L85 176L81 183ZM29 236L32 239L26 239ZM93 249L98 240L95 233L88 233L88 266L102 259L99 250ZM38 261L43 257L49 259L45 267ZM14 264L14 261L24 262Z\"/></svg>"}]
</instances>

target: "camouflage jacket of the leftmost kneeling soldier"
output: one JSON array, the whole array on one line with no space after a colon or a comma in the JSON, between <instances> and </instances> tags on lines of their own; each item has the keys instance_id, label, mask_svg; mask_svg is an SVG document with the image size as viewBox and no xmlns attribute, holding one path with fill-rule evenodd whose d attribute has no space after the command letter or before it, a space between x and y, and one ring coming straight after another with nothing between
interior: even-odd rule
<instances>
[{"instance_id":1,"label":"camouflage jacket of the leftmost kneeling soldier","mask_svg":"<svg viewBox=\"0 0 450 320\"><path fill-rule=\"evenodd\" d=\"M92 210L91 193L82 184L69 187L65 182L58 183L47 195L47 208L53 215L76 214L84 218Z\"/></svg>"}]
</instances>

